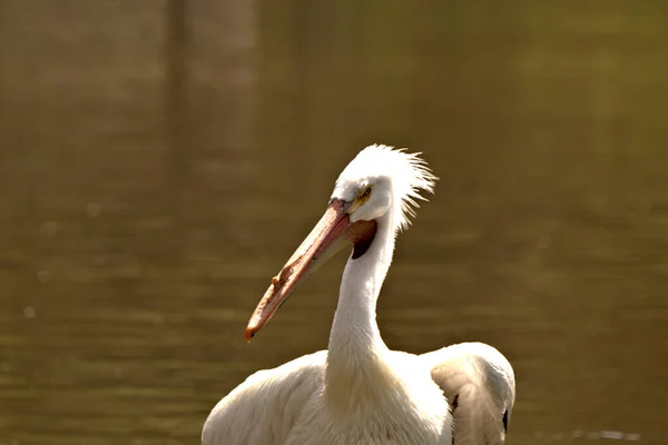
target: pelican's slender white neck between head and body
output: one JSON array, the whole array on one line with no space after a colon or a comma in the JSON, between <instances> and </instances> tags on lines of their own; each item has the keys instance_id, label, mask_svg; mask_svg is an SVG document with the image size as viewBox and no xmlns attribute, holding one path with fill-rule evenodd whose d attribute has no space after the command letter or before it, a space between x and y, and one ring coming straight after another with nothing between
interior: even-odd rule
<instances>
[{"instance_id":1,"label":"pelican's slender white neck between head and body","mask_svg":"<svg viewBox=\"0 0 668 445\"><path fill-rule=\"evenodd\" d=\"M374 402L386 394L383 382L393 384L389 349L376 323L376 301L394 251L391 222L377 220L371 246L358 258L348 259L341 281L325 374L327 403L341 409L364 399Z\"/></svg>"}]
</instances>

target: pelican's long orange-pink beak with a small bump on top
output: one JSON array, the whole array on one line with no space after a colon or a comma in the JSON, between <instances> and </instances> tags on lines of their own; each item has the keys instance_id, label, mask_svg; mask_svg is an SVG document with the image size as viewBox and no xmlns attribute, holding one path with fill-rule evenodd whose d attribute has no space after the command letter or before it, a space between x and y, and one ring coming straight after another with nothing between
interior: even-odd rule
<instances>
[{"instance_id":1,"label":"pelican's long orange-pink beak with a small bump on top","mask_svg":"<svg viewBox=\"0 0 668 445\"><path fill-rule=\"evenodd\" d=\"M325 215L302 241L283 269L272 278L269 288L248 322L246 342L250 342L250 338L289 298L297 285L314 273L321 264L346 245L373 239L376 222L356 221L351 224L348 208L348 202L333 200Z\"/></svg>"}]
</instances>

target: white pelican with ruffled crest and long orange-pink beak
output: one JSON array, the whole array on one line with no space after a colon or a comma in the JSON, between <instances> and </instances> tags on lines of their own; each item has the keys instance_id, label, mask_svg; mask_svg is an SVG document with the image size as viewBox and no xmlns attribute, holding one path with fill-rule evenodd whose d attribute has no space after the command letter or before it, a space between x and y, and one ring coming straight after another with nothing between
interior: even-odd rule
<instances>
[{"instance_id":1,"label":"white pelican with ruffled crest and long orange-pink beak","mask_svg":"<svg viewBox=\"0 0 668 445\"><path fill-rule=\"evenodd\" d=\"M500 445L514 374L491 346L423 355L387 348L376 301L396 235L436 178L420 154L373 145L343 170L324 216L287 260L246 328L250 338L295 287L345 246L327 350L249 376L206 419L204 445Z\"/></svg>"}]
</instances>

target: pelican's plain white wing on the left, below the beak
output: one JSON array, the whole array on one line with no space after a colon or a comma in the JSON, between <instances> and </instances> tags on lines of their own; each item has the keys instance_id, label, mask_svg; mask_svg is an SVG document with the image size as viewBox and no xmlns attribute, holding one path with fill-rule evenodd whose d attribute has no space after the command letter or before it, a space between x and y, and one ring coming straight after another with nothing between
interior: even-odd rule
<instances>
[{"instance_id":1,"label":"pelican's plain white wing on the left, below the beak","mask_svg":"<svg viewBox=\"0 0 668 445\"><path fill-rule=\"evenodd\" d=\"M323 386L326 350L249 376L214 407L203 445L283 444L312 394Z\"/></svg>"}]
</instances>

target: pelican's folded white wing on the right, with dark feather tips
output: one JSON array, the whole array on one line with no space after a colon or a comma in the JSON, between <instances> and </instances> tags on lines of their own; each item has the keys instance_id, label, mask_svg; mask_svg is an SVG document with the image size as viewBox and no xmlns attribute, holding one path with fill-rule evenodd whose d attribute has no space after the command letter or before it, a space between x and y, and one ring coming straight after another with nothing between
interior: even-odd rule
<instances>
[{"instance_id":1,"label":"pelican's folded white wing on the right, with dark feather tips","mask_svg":"<svg viewBox=\"0 0 668 445\"><path fill-rule=\"evenodd\" d=\"M462 343L421 359L452 407L455 445L501 445L514 404L512 366L495 348Z\"/></svg>"}]
</instances>

